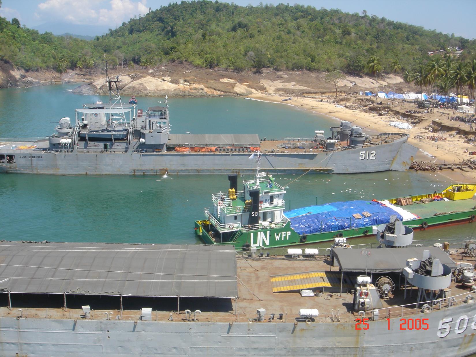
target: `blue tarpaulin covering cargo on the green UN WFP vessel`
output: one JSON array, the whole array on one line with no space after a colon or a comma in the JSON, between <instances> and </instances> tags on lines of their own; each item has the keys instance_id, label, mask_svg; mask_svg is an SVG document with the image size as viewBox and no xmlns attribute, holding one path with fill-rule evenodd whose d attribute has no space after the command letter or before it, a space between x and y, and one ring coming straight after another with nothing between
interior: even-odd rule
<instances>
[{"instance_id":1,"label":"blue tarpaulin covering cargo on the green UN WFP vessel","mask_svg":"<svg viewBox=\"0 0 476 357\"><path fill-rule=\"evenodd\" d=\"M370 213L370 216L364 217L363 212ZM352 216L357 213L362 218ZM291 221L291 228L300 235L378 226L390 222L391 215L403 220L392 208L379 202L363 200L298 208L285 212L284 215Z\"/></svg>"}]
</instances>

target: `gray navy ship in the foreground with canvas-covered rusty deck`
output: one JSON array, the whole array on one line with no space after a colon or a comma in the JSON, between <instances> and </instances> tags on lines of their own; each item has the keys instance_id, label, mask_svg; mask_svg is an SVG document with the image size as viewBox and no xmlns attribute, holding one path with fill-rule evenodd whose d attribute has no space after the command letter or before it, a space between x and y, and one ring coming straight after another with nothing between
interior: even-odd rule
<instances>
[{"instance_id":1,"label":"gray navy ship in the foreground with canvas-covered rusty deck","mask_svg":"<svg viewBox=\"0 0 476 357\"><path fill-rule=\"evenodd\" d=\"M382 248L336 238L330 257L1 241L1 355L476 353L476 244L391 248L413 235L398 223L376 227Z\"/></svg>"}]
</instances>

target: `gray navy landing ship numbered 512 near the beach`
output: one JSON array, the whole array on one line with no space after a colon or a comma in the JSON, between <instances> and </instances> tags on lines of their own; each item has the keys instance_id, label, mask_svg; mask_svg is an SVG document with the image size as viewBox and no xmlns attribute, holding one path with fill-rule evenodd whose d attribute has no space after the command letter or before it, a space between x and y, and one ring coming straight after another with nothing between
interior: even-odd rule
<instances>
[{"instance_id":1,"label":"gray navy landing ship numbered 512 near the beach","mask_svg":"<svg viewBox=\"0 0 476 357\"><path fill-rule=\"evenodd\" d=\"M250 153L275 173L407 170L417 149L406 133L365 135L342 121L325 137L259 139L256 134L171 134L169 105L122 103L119 77L107 78L109 103L84 104L47 138L0 139L0 172L37 174L252 173Z\"/></svg>"}]
</instances>

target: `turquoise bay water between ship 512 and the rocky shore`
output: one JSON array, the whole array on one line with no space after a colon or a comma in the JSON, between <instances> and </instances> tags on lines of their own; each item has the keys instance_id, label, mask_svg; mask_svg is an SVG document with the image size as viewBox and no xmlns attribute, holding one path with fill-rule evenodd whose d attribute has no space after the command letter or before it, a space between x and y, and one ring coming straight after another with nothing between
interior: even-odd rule
<instances>
[{"instance_id":1,"label":"turquoise bay water between ship 512 and the rocky shore","mask_svg":"<svg viewBox=\"0 0 476 357\"><path fill-rule=\"evenodd\" d=\"M69 117L83 103L96 103L108 97L75 95L68 91L77 84L8 88L0 90L0 138L51 135L58 120ZM129 99L129 97L124 97ZM137 97L138 107L163 105L164 98ZM338 125L337 119L316 116L306 110L280 103L241 98L169 99L172 133L258 134L260 138L314 136L315 130Z\"/></svg>"}]
</instances>

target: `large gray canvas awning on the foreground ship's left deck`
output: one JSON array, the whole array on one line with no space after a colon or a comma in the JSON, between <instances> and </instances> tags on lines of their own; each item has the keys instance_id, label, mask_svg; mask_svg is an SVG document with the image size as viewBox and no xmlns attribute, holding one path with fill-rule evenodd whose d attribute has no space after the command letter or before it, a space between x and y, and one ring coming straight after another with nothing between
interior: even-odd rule
<instances>
[{"instance_id":1,"label":"large gray canvas awning on the foreground ship's left deck","mask_svg":"<svg viewBox=\"0 0 476 357\"><path fill-rule=\"evenodd\" d=\"M0 241L0 281L18 293L238 295L232 246Z\"/></svg>"}]
</instances>

